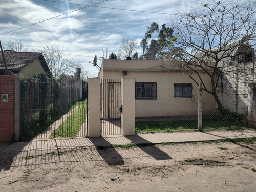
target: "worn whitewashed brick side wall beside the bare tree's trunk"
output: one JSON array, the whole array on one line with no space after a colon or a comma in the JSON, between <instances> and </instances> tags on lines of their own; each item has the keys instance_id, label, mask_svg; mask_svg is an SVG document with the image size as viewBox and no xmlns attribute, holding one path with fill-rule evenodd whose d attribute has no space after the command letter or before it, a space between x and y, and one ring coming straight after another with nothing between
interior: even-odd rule
<instances>
[{"instance_id":1,"label":"worn whitewashed brick side wall beside the bare tree's trunk","mask_svg":"<svg viewBox=\"0 0 256 192\"><path fill-rule=\"evenodd\" d=\"M253 63L239 63L224 68L217 94L224 108L238 114L247 110L248 83L253 82Z\"/></svg>"}]
</instances>

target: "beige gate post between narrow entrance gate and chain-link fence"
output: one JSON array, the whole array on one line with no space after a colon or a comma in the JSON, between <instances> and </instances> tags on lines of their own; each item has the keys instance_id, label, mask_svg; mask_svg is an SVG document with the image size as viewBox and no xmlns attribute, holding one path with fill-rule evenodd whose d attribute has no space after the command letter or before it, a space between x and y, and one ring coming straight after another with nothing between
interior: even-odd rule
<instances>
[{"instance_id":1,"label":"beige gate post between narrow entrance gate and chain-link fence","mask_svg":"<svg viewBox=\"0 0 256 192\"><path fill-rule=\"evenodd\" d=\"M122 134L135 134L135 79L122 78Z\"/></svg>"}]
</instances>

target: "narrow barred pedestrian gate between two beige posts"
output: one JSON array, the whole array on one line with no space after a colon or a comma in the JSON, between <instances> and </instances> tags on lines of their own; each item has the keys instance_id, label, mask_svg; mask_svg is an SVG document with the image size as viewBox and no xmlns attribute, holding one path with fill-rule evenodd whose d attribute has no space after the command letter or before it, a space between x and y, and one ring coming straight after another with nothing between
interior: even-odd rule
<instances>
[{"instance_id":1,"label":"narrow barred pedestrian gate between two beige posts","mask_svg":"<svg viewBox=\"0 0 256 192\"><path fill-rule=\"evenodd\" d=\"M104 79L100 83L100 133L120 135L121 132L121 80Z\"/></svg>"}]
</instances>

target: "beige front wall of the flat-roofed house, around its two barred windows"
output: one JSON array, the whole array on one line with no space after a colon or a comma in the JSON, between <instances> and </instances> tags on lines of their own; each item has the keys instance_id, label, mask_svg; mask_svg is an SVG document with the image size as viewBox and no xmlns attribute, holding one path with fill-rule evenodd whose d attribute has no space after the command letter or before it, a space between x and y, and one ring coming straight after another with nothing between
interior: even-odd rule
<instances>
[{"instance_id":1,"label":"beige front wall of the flat-roofed house, around its two barred windows","mask_svg":"<svg viewBox=\"0 0 256 192\"><path fill-rule=\"evenodd\" d=\"M157 99L156 100L135 100L135 117L187 117L198 115L198 86L186 77L186 72L175 71L104 71L104 79L135 78L136 82L156 82ZM206 74L201 74L206 86L210 87L210 80ZM102 78L102 77L100 77ZM195 76L197 79L197 77ZM174 83L191 83L192 98L174 98ZM203 92L203 115L208 115L215 111L214 98Z\"/></svg>"}]
</instances>

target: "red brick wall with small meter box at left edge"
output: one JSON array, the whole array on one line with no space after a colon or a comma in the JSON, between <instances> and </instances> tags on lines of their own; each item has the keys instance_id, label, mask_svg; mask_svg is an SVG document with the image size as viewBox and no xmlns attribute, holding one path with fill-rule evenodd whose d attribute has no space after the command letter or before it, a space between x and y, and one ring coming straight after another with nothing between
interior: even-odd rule
<instances>
[{"instance_id":1,"label":"red brick wall with small meter box at left edge","mask_svg":"<svg viewBox=\"0 0 256 192\"><path fill-rule=\"evenodd\" d=\"M0 143L11 141L14 134L15 76L0 75ZM2 102L1 94L9 94L9 102Z\"/></svg>"}]
</instances>

